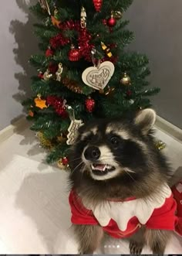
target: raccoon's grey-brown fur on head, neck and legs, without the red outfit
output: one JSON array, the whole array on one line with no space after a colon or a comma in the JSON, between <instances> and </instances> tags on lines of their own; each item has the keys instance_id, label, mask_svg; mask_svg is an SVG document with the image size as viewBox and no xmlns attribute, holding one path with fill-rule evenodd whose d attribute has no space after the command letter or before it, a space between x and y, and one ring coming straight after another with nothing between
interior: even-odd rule
<instances>
[{"instance_id":1,"label":"raccoon's grey-brown fur on head, neck and legs, without the red outfit","mask_svg":"<svg viewBox=\"0 0 182 256\"><path fill-rule=\"evenodd\" d=\"M145 109L133 118L97 120L79 129L69 155L69 180L84 203L96 206L110 198L144 199L153 196L153 192L160 193L171 172L154 145L151 128L155 119L155 111ZM103 238L102 227L73 226L79 251L92 254ZM170 234L143 227L138 235L130 237L130 253L140 254L143 245L148 244L154 254L163 254Z\"/></svg>"}]
</instances>

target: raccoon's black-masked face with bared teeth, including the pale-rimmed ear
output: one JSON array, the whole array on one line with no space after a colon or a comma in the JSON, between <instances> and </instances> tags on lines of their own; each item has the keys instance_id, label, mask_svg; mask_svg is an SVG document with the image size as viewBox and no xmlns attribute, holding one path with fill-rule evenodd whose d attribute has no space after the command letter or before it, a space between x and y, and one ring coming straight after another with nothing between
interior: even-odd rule
<instances>
[{"instance_id":1,"label":"raccoon's black-masked face with bared teeth, including the pale-rimmed ear","mask_svg":"<svg viewBox=\"0 0 182 256\"><path fill-rule=\"evenodd\" d=\"M132 176L147 166L147 134L155 122L151 109L131 120L94 121L83 125L71 155L74 172L86 172L92 179L113 179L123 173ZM144 168L145 169L145 168Z\"/></svg>"}]
</instances>

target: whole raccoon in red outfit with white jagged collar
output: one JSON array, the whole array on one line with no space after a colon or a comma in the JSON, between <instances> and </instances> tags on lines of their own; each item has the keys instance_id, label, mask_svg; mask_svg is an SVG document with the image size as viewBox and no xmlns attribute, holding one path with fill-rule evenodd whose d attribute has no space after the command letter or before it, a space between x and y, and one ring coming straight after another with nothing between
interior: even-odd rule
<instances>
[{"instance_id":1,"label":"whole raccoon in red outfit with white jagged collar","mask_svg":"<svg viewBox=\"0 0 182 256\"><path fill-rule=\"evenodd\" d=\"M69 155L79 253L93 254L104 234L129 239L130 254L140 254L145 244L153 254L164 253L176 207L167 185L170 167L153 139L155 120L155 111L145 109L79 128Z\"/></svg>"}]
</instances>

